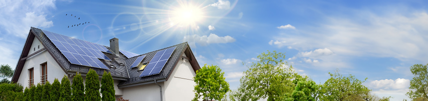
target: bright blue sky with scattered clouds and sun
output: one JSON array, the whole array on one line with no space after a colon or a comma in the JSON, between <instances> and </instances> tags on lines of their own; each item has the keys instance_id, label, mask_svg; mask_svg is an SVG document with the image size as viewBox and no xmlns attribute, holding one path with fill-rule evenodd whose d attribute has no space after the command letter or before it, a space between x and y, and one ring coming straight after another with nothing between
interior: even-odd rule
<instances>
[{"instance_id":1,"label":"bright blue sky with scattered clouds and sun","mask_svg":"<svg viewBox=\"0 0 428 101\"><path fill-rule=\"evenodd\" d=\"M117 37L121 49L139 54L188 41L199 64L220 66L232 89L247 69L242 62L257 61L258 54L276 50L286 53L296 72L316 82L323 83L328 72L339 69L361 80L368 77L364 84L376 95L402 100L408 99L409 67L428 62L426 4L423 0L3 0L0 64L16 66L34 26L103 45ZM90 23L71 26L86 21Z\"/></svg>"}]
</instances>

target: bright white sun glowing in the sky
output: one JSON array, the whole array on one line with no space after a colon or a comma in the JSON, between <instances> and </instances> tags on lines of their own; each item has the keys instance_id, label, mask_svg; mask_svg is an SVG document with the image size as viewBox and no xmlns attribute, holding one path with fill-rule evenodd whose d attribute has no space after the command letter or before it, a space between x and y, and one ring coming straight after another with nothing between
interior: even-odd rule
<instances>
[{"instance_id":1,"label":"bright white sun glowing in the sky","mask_svg":"<svg viewBox=\"0 0 428 101\"><path fill-rule=\"evenodd\" d=\"M191 4L181 5L172 11L171 22L180 26L194 26L203 19L202 8Z\"/></svg>"}]
</instances>

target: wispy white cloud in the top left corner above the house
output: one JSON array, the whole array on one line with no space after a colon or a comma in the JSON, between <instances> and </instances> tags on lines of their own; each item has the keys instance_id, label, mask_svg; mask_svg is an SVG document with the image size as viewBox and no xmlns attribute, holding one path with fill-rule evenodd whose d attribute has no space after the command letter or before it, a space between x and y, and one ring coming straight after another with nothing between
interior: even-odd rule
<instances>
[{"instance_id":1,"label":"wispy white cloud in the top left corner above the house","mask_svg":"<svg viewBox=\"0 0 428 101\"><path fill-rule=\"evenodd\" d=\"M2 0L0 1L0 30L26 38L30 26L51 27L49 9L55 9L55 0Z\"/></svg>"}]
</instances>

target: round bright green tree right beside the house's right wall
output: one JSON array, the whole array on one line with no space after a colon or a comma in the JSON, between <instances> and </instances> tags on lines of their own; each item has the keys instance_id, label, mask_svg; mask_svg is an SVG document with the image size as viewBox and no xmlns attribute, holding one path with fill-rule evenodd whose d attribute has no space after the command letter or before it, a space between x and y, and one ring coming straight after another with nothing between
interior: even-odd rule
<instances>
[{"instance_id":1,"label":"round bright green tree right beside the house's right wall","mask_svg":"<svg viewBox=\"0 0 428 101\"><path fill-rule=\"evenodd\" d=\"M204 64L199 70L196 70L196 76L193 77L196 85L195 97L193 100L203 97L203 99L220 100L229 91L229 83L224 79L224 72L221 72L217 65Z\"/></svg>"}]
</instances>

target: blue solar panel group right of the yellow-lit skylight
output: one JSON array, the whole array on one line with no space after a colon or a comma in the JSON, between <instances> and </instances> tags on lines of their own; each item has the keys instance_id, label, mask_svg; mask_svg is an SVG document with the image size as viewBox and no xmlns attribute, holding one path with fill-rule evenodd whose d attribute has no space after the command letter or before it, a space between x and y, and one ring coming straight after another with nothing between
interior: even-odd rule
<instances>
[{"instance_id":1,"label":"blue solar panel group right of the yellow-lit skylight","mask_svg":"<svg viewBox=\"0 0 428 101\"><path fill-rule=\"evenodd\" d=\"M166 62L168 61L169 57L171 56L172 52L174 52L175 48L176 47L174 46L156 52L155 56L153 56L152 60L150 60L150 63L147 64L146 68L140 74L140 77L159 74L162 68L165 66Z\"/></svg>"}]
</instances>

